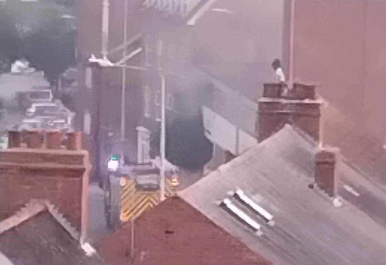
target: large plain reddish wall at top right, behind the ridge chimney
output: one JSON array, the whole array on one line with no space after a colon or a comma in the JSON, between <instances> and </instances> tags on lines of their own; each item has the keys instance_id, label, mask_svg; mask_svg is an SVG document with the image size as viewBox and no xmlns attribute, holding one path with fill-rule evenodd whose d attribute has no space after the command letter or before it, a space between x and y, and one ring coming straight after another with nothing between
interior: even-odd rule
<instances>
[{"instance_id":1,"label":"large plain reddish wall at top right, behind the ridge chimney","mask_svg":"<svg viewBox=\"0 0 386 265\"><path fill-rule=\"evenodd\" d=\"M287 3L287 24L288 12ZM386 62L380 59L386 56L385 12L386 2L373 0L296 0L295 8L295 78L318 82L319 93L358 130L381 140L386 133L381 122Z\"/></svg>"}]
</instances>

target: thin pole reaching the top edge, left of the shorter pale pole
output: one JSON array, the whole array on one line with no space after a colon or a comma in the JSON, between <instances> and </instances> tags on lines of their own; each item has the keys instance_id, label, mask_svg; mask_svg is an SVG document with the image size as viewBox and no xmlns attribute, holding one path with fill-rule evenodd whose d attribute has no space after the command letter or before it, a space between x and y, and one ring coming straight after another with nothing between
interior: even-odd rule
<instances>
[{"instance_id":1,"label":"thin pole reaching the top edge, left of the shorter pale pole","mask_svg":"<svg viewBox=\"0 0 386 265\"><path fill-rule=\"evenodd\" d=\"M123 24L123 58L126 57L126 39L127 39L127 5L128 0L125 0L125 10L124 10L124 24ZM126 66L126 61L123 62ZM121 140L125 140L125 98L126 97L126 67L122 67L122 95L121 95Z\"/></svg>"}]
</instances>

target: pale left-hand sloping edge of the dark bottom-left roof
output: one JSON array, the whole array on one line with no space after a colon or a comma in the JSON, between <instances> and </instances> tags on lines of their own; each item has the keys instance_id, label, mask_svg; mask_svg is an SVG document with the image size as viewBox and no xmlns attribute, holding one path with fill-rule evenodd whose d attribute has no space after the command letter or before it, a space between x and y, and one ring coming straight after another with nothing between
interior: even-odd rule
<instances>
[{"instance_id":1,"label":"pale left-hand sloping edge of the dark bottom-left roof","mask_svg":"<svg viewBox=\"0 0 386 265\"><path fill-rule=\"evenodd\" d=\"M30 200L14 215L0 222L0 234L20 225L22 222L27 221L32 216L35 216L44 210L46 210L44 200Z\"/></svg>"}]
</instances>

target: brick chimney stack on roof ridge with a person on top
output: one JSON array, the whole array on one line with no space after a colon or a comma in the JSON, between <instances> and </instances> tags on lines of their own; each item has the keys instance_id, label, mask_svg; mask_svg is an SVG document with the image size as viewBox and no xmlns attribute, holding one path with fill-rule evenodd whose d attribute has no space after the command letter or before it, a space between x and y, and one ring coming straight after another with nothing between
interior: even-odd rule
<instances>
[{"instance_id":1,"label":"brick chimney stack on roof ridge with a person on top","mask_svg":"<svg viewBox=\"0 0 386 265\"><path fill-rule=\"evenodd\" d=\"M259 99L258 140L269 138L285 124L291 124L319 141L320 106L315 85L294 83L283 96L286 84L264 84L264 95Z\"/></svg>"}]
</instances>

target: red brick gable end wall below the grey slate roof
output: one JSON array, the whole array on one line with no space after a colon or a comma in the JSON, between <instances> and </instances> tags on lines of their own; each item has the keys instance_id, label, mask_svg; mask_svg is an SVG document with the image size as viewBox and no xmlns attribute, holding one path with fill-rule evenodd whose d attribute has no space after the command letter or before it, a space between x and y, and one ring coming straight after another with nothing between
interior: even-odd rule
<instances>
[{"instance_id":1,"label":"red brick gable end wall below the grey slate roof","mask_svg":"<svg viewBox=\"0 0 386 265\"><path fill-rule=\"evenodd\" d=\"M237 238L178 197L169 197L134 221L103 238L98 252L110 265L268 265Z\"/></svg>"}]
</instances>

